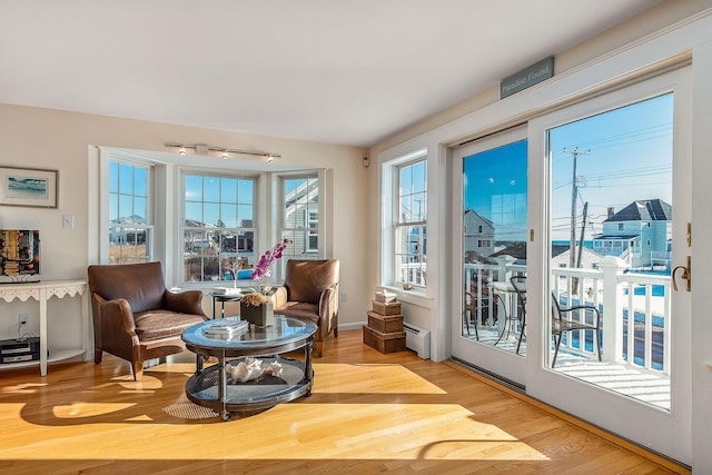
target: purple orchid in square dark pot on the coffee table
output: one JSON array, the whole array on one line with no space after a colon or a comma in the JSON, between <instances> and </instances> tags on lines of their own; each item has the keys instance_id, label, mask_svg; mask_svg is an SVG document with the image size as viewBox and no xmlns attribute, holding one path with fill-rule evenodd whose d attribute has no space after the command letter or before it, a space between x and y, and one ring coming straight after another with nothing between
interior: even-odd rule
<instances>
[{"instance_id":1,"label":"purple orchid in square dark pot on the coffee table","mask_svg":"<svg viewBox=\"0 0 712 475\"><path fill-rule=\"evenodd\" d=\"M265 251L259 258L251 279L257 281L257 290L246 294L240 298L240 317L251 324L266 326L273 316L271 299L268 295L271 286L267 285L271 277L271 266L275 260L280 259L289 239L283 239L277 245Z\"/></svg>"}]
</instances>

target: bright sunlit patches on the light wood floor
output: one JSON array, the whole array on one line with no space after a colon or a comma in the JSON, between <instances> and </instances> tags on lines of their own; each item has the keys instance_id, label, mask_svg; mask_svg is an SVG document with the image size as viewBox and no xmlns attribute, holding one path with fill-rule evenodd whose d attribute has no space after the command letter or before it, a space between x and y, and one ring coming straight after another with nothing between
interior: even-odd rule
<instances>
[{"instance_id":1,"label":"bright sunlit patches on the light wood floor","mask_svg":"<svg viewBox=\"0 0 712 475\"><path fill-rule=\"evenodd\" d=\"M161 366L147 373L185 374L187 369L184 365ZM46 409L32 407L33 412L40 410L32 414L34 420L26 419L29 413L23 405L1 404L0 419L19 418L12 424L29 428L39 423L43 427L38 432L41 436L30 443L8 437L0 448L0 459L100 459L109 453L115 459L132 459L145 456L147 445L155 459L180 459L186 454L195 459L548 459L496 425L477 420L475 414L457 404L402 403L400 395L439 397L445 392L400 365L315 364L314 368L317 377L313 398L234 417L228 423L212 412L194 410L202 409L199 406L182 407L186 404L180 400L168 410L144 407L140 399L82 402L81 392L71 395L71 403ZM101 386L103 392L113 386L126 400L127 390L149 387L158 392L161 384L147 374L140 383L119 377ZM318 394L339 393L358 393L378 400L314 402ZM136 394L150 400L150 395ZM192 420L186 414L192 414ZM195 420L200 416L209 418ZM101 439L98 446L97 434L109 425L115 437ZM249 437L244 437L247 434ZM121 442L127 439L135 443ZM196 445L196 441L202 443Z\"/></svg>"}]
</instances>

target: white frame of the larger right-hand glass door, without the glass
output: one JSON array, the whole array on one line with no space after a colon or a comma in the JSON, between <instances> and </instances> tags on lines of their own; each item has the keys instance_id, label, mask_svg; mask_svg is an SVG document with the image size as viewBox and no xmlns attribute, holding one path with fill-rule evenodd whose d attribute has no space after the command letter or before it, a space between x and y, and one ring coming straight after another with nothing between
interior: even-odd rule
<instances>
[{"instance_id":1,"label":"white frame of the larger right-hand glass door, without the glass","mask_svg":"<svg viewBox=\"0 0 712 475\"><path fill-rule=\"evenodd\" d=\"M685 224L691 222L691 167L692 156L692 73L690 67L662 73L624 88L591 98L575 105L542 115L530 121L530 176L528 219L534 239L527 246L527 345L526 393L566 413L596 426L605 427L622 437L634 441L649 449L662 453L679 462L692 463L691 437L691 300L690 293L673 293L672 308L675 317L671 333L671 409L663 410L636 399L611 393L573 379L546 367L544 345L548 343L543 319L534 315L550 315L548 296L548 200L550 160L546 130L644 100L665 92L673 92L673 267L683 264L683 255L692 250L682 246L685 241ZM597 111L597 112L596 112ZM693 266L694 267L694 266ZM585 400L586 404L581 404Z\"/></svg>"}]
</instances>

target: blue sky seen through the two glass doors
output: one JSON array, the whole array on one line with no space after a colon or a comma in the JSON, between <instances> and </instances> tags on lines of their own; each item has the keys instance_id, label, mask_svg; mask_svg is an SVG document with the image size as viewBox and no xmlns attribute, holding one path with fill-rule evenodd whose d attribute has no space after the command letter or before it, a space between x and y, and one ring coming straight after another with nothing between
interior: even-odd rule
<instances>
[{"instance_id":1,"label":"blue sky seen through the two glass doors","mask_svg":"<svg viewBox=\"0 0 712 475\"><path fill-rule=\"evenodd\" d=\"M576 159L576 236L589 204L585 239L602 231L607 208L640 199L672 202L673 96L666 93L550 130L552 239L568 240ZM464 160L465 209L495 224L497 240L526 239L526 141Z\"/></svg>"}]
</instances>

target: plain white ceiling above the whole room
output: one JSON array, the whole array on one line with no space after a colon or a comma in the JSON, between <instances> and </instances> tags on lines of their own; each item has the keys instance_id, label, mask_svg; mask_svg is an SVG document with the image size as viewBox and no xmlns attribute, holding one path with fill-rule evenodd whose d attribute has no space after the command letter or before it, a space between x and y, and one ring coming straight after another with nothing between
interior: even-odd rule
<instances>
[{"instance_id":1,"label":"plain white ceiling above the whole room","mask_svg":"<svg viewBox=\"0 0 712 475\"><path fill-rule=\"evenodd\" d=\"M0 0L0 102L369 147L657 0Z\"/></svg>"}]
</instances>

